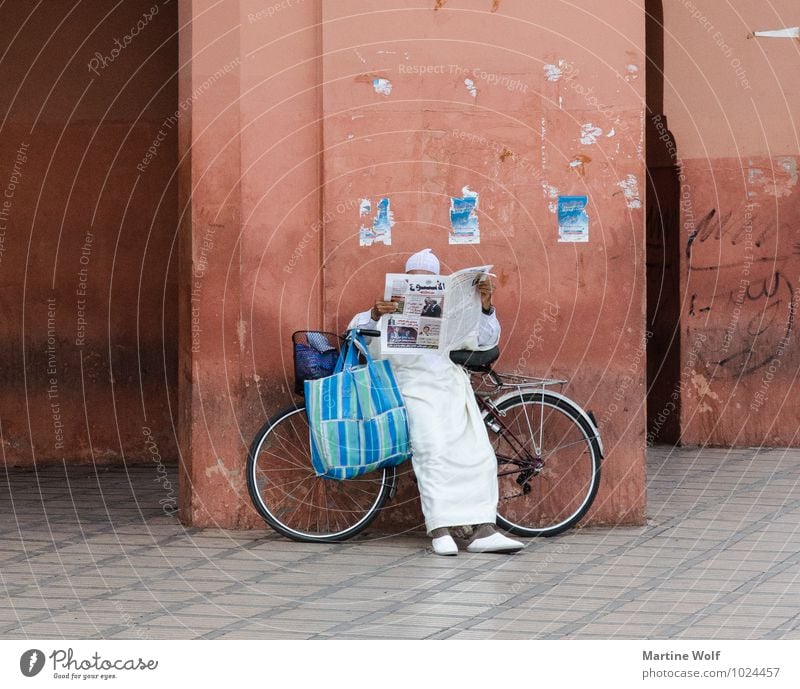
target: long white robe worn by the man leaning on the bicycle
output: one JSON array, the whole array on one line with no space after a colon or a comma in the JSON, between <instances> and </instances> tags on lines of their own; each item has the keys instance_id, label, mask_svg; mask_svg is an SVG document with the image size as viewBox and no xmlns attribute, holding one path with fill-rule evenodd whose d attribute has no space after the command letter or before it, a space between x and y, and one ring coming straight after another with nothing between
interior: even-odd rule
<instances>
[{"instance_id":1,"label":"long white robe worn by the man leaning on the bicycle","mask_svg":"<svg viewBox=\"0 0 800 689\"><path fill-rule=\"evenodd\" d=\"M370 312L351 328L377 328ZM478 343L500 340L494 313L481 315ZM377 354L377 339L370 347ZM445 526L494 523L497 518L497 459L469 376L447 355L390 355L408 410L412 463L430 533Z\"/></svg>"}]
</instances>

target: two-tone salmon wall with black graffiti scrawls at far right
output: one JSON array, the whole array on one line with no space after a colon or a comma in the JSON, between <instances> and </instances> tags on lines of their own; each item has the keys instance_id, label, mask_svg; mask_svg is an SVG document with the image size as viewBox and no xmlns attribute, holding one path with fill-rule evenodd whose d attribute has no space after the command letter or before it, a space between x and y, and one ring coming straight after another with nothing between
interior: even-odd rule
<instances>
[{"instance_id":1,"label":"two-tone salmon wall with black graffiti scrawls at far right","mask_svg":"<svg viewBox=\"0 0 800 689\"><path fill-rule=\"evenodd\" d=\"M796 445L797 3L665 5L681 180L682 441Z\"/></svg>"}]
</instances>

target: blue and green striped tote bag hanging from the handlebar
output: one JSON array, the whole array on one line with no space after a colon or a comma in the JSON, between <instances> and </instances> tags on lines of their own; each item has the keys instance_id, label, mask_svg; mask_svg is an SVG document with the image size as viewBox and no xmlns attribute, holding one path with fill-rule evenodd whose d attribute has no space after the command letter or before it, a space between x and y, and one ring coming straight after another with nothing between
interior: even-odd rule
<instances>
[{"instance_id":1,"label":"blue and green striped tote bag hanging from the handlebar","mask_svg":"<svg viewBox=\"0 0 800 689\"><path fill-rule=\"evenodd\" d=\"M358 352L365 365L358 364ZM356 333L333 375L305 381L305 398L318 476L356 478L411 456L408 416L391 364L374 361Z\"/></svg>"}]
</instances>

